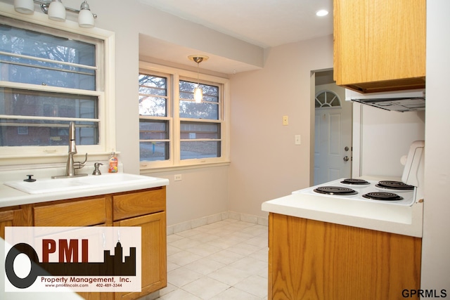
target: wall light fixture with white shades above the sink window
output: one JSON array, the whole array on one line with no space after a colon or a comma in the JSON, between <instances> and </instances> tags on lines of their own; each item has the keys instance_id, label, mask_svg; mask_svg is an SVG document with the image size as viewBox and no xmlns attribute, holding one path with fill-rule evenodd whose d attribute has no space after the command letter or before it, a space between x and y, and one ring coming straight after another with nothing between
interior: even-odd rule
<instances>
[{"instance_id":1,"label":"wall light fixture with white shades above the sink window","mask_svg":"<svg viewBox=\"0 0 450 300\"><path fill-rule=\"evenodd\" d=\"M87 1L83 1L79 10L75 8L65 7L61 0L41 1L41 0L14 0L14 9L18 13L25 13L31 15L34 13L34 4L41 6L41 11L49 15L50 20L58 22L65 22L65 11L78 13L79 27L91 28L94 27L94 18L97 18L95 13L91 13Z\"/></svg>"}]
</instances>

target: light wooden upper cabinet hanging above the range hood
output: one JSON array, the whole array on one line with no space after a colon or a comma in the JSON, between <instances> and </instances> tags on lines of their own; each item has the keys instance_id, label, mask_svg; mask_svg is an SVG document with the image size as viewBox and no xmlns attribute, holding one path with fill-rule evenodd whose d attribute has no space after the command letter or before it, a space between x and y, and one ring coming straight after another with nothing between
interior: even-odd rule
<instances>
[{"instance_id":1,"label":"light wooden upper cabinet hanging above the range hood","mask_svg":"<svg viewBox=\"0 0 450 300\"><path fill-rule=\"evenodd\" d=\"M333 18L336 84L425 89L425 0L334 0Z\"/></svg>"}]
</instances>

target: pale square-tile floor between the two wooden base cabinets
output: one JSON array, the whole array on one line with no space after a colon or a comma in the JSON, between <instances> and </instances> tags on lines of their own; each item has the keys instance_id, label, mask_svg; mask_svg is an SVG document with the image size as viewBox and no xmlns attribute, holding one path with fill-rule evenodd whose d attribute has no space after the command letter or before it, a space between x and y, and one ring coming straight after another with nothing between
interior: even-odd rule
<instances>
[{"instance_id":1,"label":"pale square-tile floor between the two wooden base cabinets","mask_svg":"<svg viewBox=\"0 0 450 300\"><path fill-rule=\"evenodd\" d=\"M225 219L167 236L158 299L267 299L267 226Z\"/></svg>"}]
</instances>

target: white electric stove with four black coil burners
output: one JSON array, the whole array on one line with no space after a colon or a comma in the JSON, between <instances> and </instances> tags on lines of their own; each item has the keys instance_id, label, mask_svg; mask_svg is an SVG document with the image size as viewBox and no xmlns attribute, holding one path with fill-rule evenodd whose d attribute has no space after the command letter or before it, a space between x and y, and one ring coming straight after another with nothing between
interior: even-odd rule
<instances>
[{"instance_id":1,"label":"white electric stove with four black coil burners","mask_svg":"<svg viewBox=\"0 0 450 300\"><path fill-rule=\"evenodd\" d=\"M411 206L423 197L424 150L424 141L415 141L411 144L401 181L340 178L296 190L293 194Z\"/></svg>"}]
</instances>

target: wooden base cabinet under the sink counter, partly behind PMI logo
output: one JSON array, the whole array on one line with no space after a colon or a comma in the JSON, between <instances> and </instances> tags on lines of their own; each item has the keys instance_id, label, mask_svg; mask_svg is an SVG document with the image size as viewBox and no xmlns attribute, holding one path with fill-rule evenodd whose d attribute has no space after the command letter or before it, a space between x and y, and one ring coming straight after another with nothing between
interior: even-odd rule
<instances>
[{"instance_id":1,"label":"wooden base cabinet under the sink counter, partly behind PMI logo","mask_svg":"<svg viewBox=\"0 0 450 300\"><path fill-rule=\"evenodd\" d=\"M82 292L89 300L138 299L167 286L166 187L0 208L6 226L140 226L141 292Z\"/></svg>"}]
</instances>

